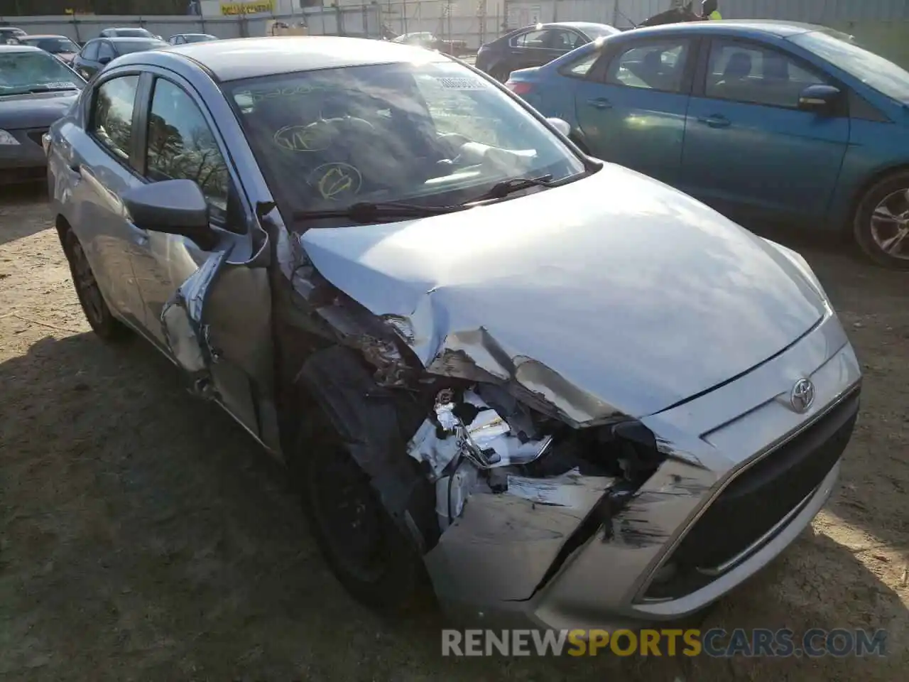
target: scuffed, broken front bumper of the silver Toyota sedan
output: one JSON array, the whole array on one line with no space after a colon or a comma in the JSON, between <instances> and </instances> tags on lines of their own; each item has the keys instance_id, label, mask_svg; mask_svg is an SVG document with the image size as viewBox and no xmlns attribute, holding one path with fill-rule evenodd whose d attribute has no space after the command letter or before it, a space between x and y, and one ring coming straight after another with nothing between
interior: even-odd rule
<instances>
[{"instance_id":1,"label":"scuffed, broken front bumper of the silver Toyota sedan","mask_svg":"<svg viewBox=\"0 0 909 682\"><path fill-rule=\"evenodd\" d=\"M815 398L798 414L789 395L803 377L813 381ZM472 547L492 538L489 521L473 537L449 530L426 556L443 607L482 627L614 630L696 614L766 566L824 506L852 434L860 381L854 351L830 314L747 375L644 418L670 457L606 523L584 529L591 504L565 532L544 516L551 509L527 506L502 522L522 524L527 541L505 539L504 550L503 542ZM782 501L774 506L774 499ZM547 543L543 531L562 547L576 546L554 571L554 538ZM486 557L479 567L477 557ZM528 573L541 563L549 570L534 583L539 574Z\"/></svg>"}]
</instances>

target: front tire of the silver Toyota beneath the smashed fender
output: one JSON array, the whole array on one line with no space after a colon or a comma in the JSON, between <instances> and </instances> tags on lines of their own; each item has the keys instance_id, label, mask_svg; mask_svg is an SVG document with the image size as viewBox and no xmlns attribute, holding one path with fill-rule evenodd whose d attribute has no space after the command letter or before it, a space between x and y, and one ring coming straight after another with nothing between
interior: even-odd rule
<instances>
[{"instance_id":1,"label":"front tire of the silver Toyota beneath the smashed fender","mask_svg":"<svg viewBox=\"0 0 909 682\"><path fill-rule=\"evenodd\" d=\"M292 468L328 567L367 607L386 615L414 607L425 592L421 558L340 437L307 417Z\"/></svg>"}]
</instances>

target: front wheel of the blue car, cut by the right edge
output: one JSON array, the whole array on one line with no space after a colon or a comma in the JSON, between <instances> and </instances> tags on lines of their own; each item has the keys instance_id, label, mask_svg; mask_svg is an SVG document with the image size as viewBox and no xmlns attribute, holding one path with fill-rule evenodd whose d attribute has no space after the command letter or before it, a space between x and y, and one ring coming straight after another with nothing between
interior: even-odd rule
<instances>
[{"instance_id":1,"label":"front wheel of the blue car, cut by the right edge","mask_svg":"<svg viewBox=\"0 0 909 682\"><path fill-rule=\"evenodd\" d=\"M909 270L909 172L886 176L864 193L853 233L877 265Z\"/></svg>"}]
</instances>

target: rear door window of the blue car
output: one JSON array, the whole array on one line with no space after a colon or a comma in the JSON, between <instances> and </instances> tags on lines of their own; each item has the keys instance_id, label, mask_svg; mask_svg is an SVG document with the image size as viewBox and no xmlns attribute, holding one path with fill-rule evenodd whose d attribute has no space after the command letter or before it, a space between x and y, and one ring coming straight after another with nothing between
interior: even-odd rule
<instances>
[{"instance_id":1,"label":"rear door window of the blue car","mask_svg":"<svg viewBox=\"0 0 909 682\"><path fill-rule=\"evenodd\" d=\"M635 45L615 56L606 70L606 83L682 92L689 51L687 40Z\"/></svg>"}]
</instances>

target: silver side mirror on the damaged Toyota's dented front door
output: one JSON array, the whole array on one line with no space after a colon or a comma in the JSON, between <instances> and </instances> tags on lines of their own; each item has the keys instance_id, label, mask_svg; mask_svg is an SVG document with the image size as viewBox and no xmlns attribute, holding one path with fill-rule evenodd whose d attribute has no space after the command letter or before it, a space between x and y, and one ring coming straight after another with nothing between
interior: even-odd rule
<instances>
[{"instance_id":1,"label":"silver side mirror on the damaged Toyota's dented front door","mask_svg":"<svg viewBox=\"0 0 909 682\"><path fill-rule=\"evenodd\" d=\"M124 193L123 203L139 229L187 236L206 250L215 246L208 202L192 180L164 180L137 186Z\"/></svg>"}]
</instances>

